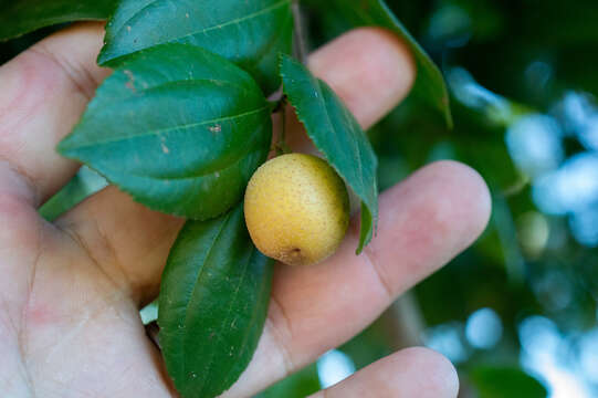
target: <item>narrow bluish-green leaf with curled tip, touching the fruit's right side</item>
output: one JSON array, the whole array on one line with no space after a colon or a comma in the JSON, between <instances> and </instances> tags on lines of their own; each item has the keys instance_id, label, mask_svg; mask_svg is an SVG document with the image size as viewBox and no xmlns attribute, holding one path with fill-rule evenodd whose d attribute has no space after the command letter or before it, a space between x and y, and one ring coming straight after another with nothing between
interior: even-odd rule
<instances>
[{"instance_id":1,"label":"narrow bluish-green leaf with curled tip, touching the fruit's right side","mask_svg":"<svg viewBox=\"0 0 598 398\"><path fill-rule=\"evenodd\" d=\"M334 91L287 55L281 57L284 94L295 107L307 135L328 163L361 199L360 253L378 219L378 160L369 140Z\"/></svg>"}]
</instances>

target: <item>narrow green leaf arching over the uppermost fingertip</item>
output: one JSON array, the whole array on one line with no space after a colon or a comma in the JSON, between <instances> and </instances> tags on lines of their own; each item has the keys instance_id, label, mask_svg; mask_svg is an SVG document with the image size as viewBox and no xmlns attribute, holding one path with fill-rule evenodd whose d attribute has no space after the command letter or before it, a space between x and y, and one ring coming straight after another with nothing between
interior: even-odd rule
<instances>
[{"instance_id":1,"label":"narrow green leaf arching over the uppermost fingertip","mask_svg":"<svg viewBox=\"0 0 598 398\"><path fill-rule=\"evenodd\" d=\"M416 60L418 74L413 95L442 113L447 125L452 128L449 94L442 73L426 51L411 36L384 0L304 0L316 10L342 20L349 27L381 27L390 30L409 45ZM400 73L397 71L397 73Z\"/></svg>"}]
</instances>

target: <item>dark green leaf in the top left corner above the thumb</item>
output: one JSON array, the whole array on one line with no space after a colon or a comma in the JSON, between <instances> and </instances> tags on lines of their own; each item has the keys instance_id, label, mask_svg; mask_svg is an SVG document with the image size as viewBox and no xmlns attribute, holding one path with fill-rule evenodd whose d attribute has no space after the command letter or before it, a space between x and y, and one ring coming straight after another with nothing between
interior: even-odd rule
<instances>
[{"instance_id":1,"label":"dark green leaf in the top left corner above the thumb","mask_svg":"<svg viewBox=\"0 0 598 398\"><path fill-rule=\"evenodd\" d=\"M0 0L0 41L56 23L107 19L116 0Z\"/></svg>"}]
</instances>

